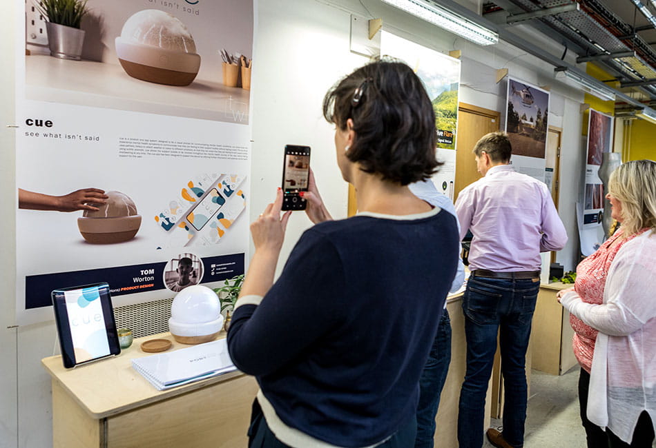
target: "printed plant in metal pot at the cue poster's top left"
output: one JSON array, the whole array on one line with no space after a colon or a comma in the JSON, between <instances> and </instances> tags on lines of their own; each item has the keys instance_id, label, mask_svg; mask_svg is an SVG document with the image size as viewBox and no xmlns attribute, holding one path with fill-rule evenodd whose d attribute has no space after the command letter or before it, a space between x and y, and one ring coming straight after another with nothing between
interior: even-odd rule
<instances>
[{"instance_id":1,"label":"printed plant in metal pot at the cue poster's top left","mask_svg":"<svg viewBox=\"0 0 656 448\"><path fill-rule=\"evenodd\" d=\"M48 19L50 56L79 61L84 43L84 30L79 25L88 12L86 0L41 0L37 8Z\"/></svg>"}]
</instances>

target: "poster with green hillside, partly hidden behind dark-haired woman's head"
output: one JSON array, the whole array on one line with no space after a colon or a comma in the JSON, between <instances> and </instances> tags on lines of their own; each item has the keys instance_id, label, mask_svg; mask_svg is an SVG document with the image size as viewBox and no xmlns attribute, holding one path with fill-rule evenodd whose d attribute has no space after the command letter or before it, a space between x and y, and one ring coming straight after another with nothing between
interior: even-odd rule
<instances>
[{"instance_id":1,"label":"poster with green hillside, partly hidden behind dark-haired woman's head","mask_svg":"<svg viewBox=\"0 0 656 448\"><path fill-rule=\"evenodd\" d=\"M444 163L432 181L453 201L461 62L385 31L380 37L380 54L405 61L424 83L435 111L437 158Z\"/></svg>"}]
</instances>

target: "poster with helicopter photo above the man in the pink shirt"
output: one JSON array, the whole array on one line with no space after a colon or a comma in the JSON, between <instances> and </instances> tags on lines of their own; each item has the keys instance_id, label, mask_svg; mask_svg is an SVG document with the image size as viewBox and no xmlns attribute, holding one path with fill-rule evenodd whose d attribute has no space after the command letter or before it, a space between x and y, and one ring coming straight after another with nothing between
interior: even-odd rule
<instances>
[{"instance_id":1,"label":"poster with helicopter photo above the man in the pink shirt","mask_svg":"<svg viewBox=\"0 0 656 448\"><path fill-rule=\"evenodd\" d=\"M505 132L512 145L511 163L517 172L545 181L549 92L508 78Z\"/></svg>"}]
</instances>

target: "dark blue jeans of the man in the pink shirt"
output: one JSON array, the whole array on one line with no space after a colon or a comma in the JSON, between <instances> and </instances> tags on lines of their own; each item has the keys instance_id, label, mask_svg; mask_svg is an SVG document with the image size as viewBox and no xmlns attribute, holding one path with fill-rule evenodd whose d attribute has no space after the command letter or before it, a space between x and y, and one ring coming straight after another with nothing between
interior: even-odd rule
<instances>
[{"instance_id":1,"label":"dark blue jeans of the man in the pink shirt","mask_svg":"<svg viewBox=\"0 0 656 448\"><path fill-rule=\"evenodd\" d=\"M460 393L458 441L461 448L483 446L485 394L499 332L505 388L503 438L522 447L526 418L525 356L540 288L532 279L471 276L463 298L467 373Z\"/></svg>"}]
</instances>

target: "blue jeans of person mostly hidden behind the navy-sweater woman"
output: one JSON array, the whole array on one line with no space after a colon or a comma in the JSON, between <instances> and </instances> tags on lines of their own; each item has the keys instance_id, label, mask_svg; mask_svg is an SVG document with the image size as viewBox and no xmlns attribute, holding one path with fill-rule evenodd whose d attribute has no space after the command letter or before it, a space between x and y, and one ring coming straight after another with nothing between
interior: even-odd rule
<instances>
[{"instance_id":1,"label":"blue jeans of person mostly hidden behind the navy-sweater woman","mask_svg":"<svg viewBox=\"0 0 656 448\"><path fill-rule=\"evenodd\" d=\"M433 448L435 415L440 405L442 387L451 363L451 320L446 309L428 354L426 365L419 378L419 404L417 406L417 438L415 448Z\"/></svg>"}]
</instances>

